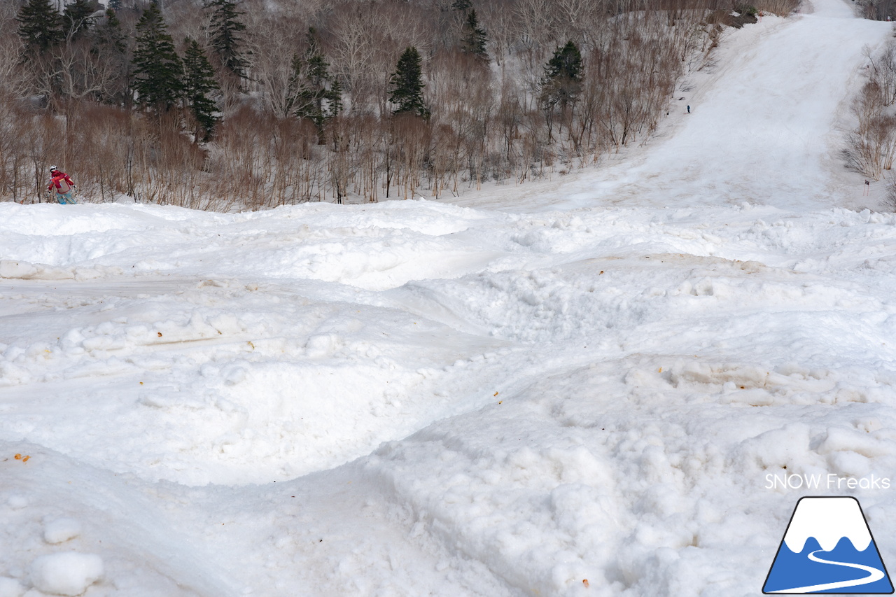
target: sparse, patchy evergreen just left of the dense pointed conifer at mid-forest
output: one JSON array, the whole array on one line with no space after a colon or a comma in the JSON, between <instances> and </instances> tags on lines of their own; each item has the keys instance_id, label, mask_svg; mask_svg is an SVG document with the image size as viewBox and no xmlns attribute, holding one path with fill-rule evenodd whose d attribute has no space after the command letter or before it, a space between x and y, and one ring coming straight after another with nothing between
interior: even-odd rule
<instances>
[{"instance_id":1,"label":"sparse, patchy evergreen just left of the dense pointed conifer at mid-forest","mask_svg":"<svg viewBox=\"0 0 896 597\"><path fill-rule=\"evenodd\" d=\"M330 65L323 58L314 28L308 29L308 49L305 59L293 58L293 74L297 84L295 115L309 118L323 134L324 123L339 114L342 109L340 84L329 72Z\"/></svg>"}]
</instances>

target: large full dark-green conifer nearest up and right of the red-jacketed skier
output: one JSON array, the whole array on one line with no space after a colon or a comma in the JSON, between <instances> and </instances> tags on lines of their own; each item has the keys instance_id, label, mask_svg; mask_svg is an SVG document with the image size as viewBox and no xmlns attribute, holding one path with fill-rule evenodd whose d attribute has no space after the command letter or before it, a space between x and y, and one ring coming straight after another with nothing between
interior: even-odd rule
<instances>
[{"instance_id":1,"label":"large full dark-green conifer nearest up and right of the red-jacketed skier","mask_svg":"<svg viewBox=\"0 0 896 597\"><path fill-rule=\"evenodd\" d=\"M137 22L134 48L134 91L137 92L137 99L156 112L167 112L181 97L183 72L159 4L153 2Z\"/></svg>"}]
</instances>

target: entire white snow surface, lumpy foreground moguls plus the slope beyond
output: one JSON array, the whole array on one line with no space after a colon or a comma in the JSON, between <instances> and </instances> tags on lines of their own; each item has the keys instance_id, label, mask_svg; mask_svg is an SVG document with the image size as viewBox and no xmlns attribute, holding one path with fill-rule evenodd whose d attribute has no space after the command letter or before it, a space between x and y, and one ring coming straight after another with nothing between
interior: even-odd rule
<instances>
[{"instance_id":1,"label":"entire white snow surface, lumpy foreground moguls plus the slope beyond","mask_svg":"<svg viewBox=\"0 0 896 597\"><path fill-rule=\"evenodd\" d=\"M890 34L766 16L453 203L0 203L0 595L756 595L805 495L896 562L896 216L838 157Z\"/></svg>"}]
</instances>

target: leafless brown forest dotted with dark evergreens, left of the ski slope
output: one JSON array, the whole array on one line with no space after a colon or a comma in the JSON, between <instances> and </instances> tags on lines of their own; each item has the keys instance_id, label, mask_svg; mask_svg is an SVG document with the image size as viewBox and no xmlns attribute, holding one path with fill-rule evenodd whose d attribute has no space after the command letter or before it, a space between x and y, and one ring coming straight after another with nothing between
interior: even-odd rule
<instances>
[{"instance_id":1,"label":"leafless brown forest dotted with dark evergreens, left of the ski slope","mask_svg":"<svg viewBox=\"0 0 896 597\"><path fill-rule=\"evenodd\" d=\"M562 176L647 139L725 27L796 4L6 2L0 199L48 201L51 164L82 201L215 211Z\"/></svg>"}]
</instances>

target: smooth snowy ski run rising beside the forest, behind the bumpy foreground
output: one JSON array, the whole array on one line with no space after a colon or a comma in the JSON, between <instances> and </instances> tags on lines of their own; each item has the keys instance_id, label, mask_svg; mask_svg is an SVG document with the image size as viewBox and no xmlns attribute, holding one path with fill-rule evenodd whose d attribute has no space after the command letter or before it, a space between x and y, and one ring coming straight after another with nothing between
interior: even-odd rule
<instances>
[{"instance_id":1,"label":"smooth snowy ski run rising beside the forest, behind the bumpy foreground","mask_svg":"<svg viewBox=\"0 0 896 597\"><path fill-rule=\"evenodd\" d=\"M840 151L855 125L849 104L862 85L863 52L892 23L855 19L851 3L819 0L788 19L765 16L726 30L711 63L688 74L669 101L658 134L611 155L605 167L499 190L464 205L510 211L619 204L763 203L801 211L878 201L865 179L843 168ZM687 113L687 107L691 113ZM883 189L873 185L873 197ZM550 196L549 202L544 195Z\"/></svg>"}]
</instances>

